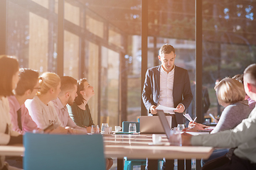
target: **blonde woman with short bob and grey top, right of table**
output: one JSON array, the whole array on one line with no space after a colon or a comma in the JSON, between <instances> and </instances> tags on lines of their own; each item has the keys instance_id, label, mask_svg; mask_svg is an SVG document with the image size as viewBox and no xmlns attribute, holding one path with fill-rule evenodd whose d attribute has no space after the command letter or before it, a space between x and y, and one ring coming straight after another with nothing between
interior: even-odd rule
<instances>
[{"instance_id":1,"label":"blonde woman with short bob and grey top, right of table","mask_svg":"<svg viewBox=\"0 0 256 170\"><path fill-rule=\"evenodd\" d=\"M218 103L224 107L220 120L210 133L230 130L235 128L243 119L248 118L252 109L245 101L245 89L242 83L236 79L225 78L214 87ZM189 126L196 126L195 130L203 129L200 123L189 123Z\"/></svg>"}]
</instances>

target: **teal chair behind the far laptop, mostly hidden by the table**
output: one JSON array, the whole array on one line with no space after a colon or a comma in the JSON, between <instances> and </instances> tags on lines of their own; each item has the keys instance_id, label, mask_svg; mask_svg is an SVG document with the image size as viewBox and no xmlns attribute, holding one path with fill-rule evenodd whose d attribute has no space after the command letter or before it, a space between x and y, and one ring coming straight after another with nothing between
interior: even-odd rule
<instances>
[{"instance_id":1,"label":"teal chair behind the far laptop, mostly hidden by the table","mask_svg":"<svg viewBox=\"0 0 256 170\"><path fill-rule=\"evenodd\" d=\"M122 122L122 130L123 132L129 132L129 124L135 123L136 124L136 131L139 132L139 122ZM161 162L163 160L159 160ZM132 170L133 166L136 165L146 165L146 159L129 159L127 157L124 157L124 170ZM158 169L161 169L161 165L159 165Z\"/></svg>"}]
</instances>

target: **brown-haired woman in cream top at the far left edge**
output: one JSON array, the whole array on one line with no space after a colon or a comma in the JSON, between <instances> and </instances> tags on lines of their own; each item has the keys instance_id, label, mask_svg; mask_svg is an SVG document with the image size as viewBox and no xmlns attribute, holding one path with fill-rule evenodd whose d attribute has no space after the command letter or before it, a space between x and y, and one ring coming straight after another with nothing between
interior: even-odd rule
<instances>
[{"instance_id":1,"label":"brown-haired woman in cream top at the far left edge","mask_svg":"<svg viewBox=\"0 0 256 170\"><path fill-rule=\"evenodd\" d=\"M18 61L14 57L0 56L0 145L22 144L23 136L12 130L7 96L14 95L18 83ZM0 156L0 169L17 169L5 162Z\"/></svg>"}]
</instances>

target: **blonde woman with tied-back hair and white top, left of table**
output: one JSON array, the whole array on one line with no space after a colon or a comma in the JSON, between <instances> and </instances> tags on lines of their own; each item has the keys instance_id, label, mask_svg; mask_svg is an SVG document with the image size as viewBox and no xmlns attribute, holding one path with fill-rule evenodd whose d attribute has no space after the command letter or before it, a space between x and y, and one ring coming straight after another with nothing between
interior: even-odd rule
<instances>
[{"instance_id":1,"label":"blonde woman with tied-back hair and white top, left of table","mask_svg":"<svg viewBox=\"0 0 256 170\"><path fill-rule=\"evenodd\" d=\"M60 93L60 77L55 73L45 72L40 77L39 86L41 89L36 96L25 102L29 115L38 128L44 129L50 124L60 126L61 122L51 102Z\"/></svg>"}]
</instances>

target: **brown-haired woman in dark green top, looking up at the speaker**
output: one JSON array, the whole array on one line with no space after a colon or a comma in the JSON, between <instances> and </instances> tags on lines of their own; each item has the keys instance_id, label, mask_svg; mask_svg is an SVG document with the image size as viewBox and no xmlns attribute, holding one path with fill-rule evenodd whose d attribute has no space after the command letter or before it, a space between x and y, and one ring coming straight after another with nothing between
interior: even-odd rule
<instances>
[{"instance_id":1,"label":"brown-haired woman in dark green top, looking up at the speaker","mask_svg":"<svg viewBox=\"0 0 256 170\"><path fill-rule=\"evenodd\" d=\"M78 96L75 97L73 105L68 106L68 112L76 125L87 128L90 132L90 126L95 125L92 120L88 101L95 95L93 87L88 83L87 79L78 81Z\"/></svg>"}]
</instances>

